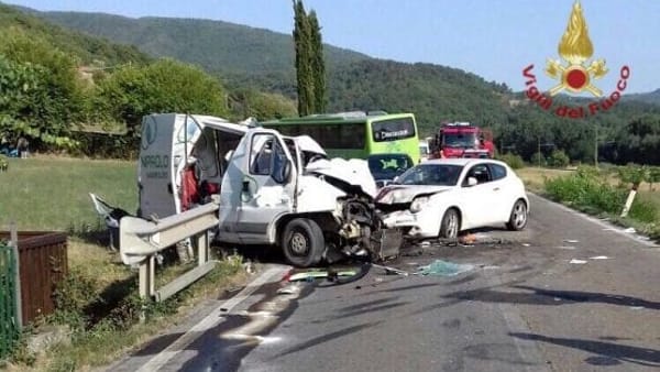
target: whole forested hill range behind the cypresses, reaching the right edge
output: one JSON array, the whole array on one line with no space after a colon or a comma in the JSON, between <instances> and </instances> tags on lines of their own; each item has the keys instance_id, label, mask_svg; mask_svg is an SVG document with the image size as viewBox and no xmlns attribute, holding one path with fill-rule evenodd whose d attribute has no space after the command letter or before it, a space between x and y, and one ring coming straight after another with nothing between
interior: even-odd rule
<instances>
[{"instance_id":1,"label":"whole forested hill range behind the cypresses, reaching the right edge","mask_svg":"<svg viewBox=\"0 0 660 372\"><path fill-rule=\"evenodd\" d=\"M292 99L296 96L290 34L218 21L30 12L113 42L132 43L152 56L196 63L218 75L237 101L251 88L282 92ZM603 114L574 120L543 111L506 85L486 81L459 68L376 59L332 46L324 51L329 62L329 111L410 111L417 117L421 135L432 133L441 121L471 121L493 128L498 149L526 158L531 158L538 144L544 143L544 155L563 150L572 160L588 161L593 158L596 128L601 146L610 146L612 154L631 154L625 146L637 142L629 138L628 125L637 125L642 114L645 123L660 122L660 106L649 103L658 101L658 92L625 96ZM557 98L565 99L569 98ZM644 140L651 143L647 147L660 149L660 140L656 141L660 132L651 132L654 136ZM603 150L602 156L606 153ZM639 161L632 155L617 156L613 158L618 162Z\"/></svg>"}]
</instances>

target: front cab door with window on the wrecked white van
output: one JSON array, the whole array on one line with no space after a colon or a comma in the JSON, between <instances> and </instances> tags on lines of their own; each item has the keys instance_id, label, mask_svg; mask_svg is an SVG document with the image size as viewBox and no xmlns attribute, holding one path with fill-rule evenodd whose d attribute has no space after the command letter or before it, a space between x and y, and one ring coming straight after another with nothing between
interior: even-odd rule
<instances>
[{"instance_id":1,"label":"front cab door with window on the wrecked white van","mask_svg":"<svg viewBox=\"0 0 660 372\"><path fill-rule=\"evenodd\" d=\"M274 243L271 223L294 210L295 163L275 131L255 131L249 140L235 231L245 244Z\"/></svg>"}]
</instances>

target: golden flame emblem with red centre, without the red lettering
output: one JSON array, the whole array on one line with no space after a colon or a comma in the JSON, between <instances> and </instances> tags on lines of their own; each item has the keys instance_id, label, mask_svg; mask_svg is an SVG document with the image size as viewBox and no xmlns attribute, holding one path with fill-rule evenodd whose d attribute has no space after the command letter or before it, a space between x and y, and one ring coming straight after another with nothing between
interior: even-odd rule
<instances>
[{"instance_id":1,"label":"golden flame emblem with red centre, without the red lettering","mask_svg":"<svg viewBox=\"0 0 660 372\"><path fill-rule=\"evenodd\" d=\"M596 88L592 80L600 79L607 74L605 59L592 61L586 64L594 54L594 46L588 37L588 28L582 13L580 1L575 1L569 25L559 42L559 55L568 65L560 61L548 58L546 74L560 83L550 89L550 96L568 90L579 94L586 90L595 97L603 96L603 91Z\"/></svg>"}]
</instances>

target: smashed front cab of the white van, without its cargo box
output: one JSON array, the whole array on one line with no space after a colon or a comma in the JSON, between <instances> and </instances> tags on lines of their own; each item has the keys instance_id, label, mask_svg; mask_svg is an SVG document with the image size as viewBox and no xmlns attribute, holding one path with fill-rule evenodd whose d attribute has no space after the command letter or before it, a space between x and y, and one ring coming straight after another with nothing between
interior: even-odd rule
<instances>
[{"instance_id":1,"label":"smashed front cab of the white van, without its cargo box","mask_svg":"<svg viewBox=\"0 0 660 372\"><path fill-rule=\"evenodd\" d=\"M279 245L296 266L344 255L384 259L398 253L403 238L384 228L375 193L365 161L328 160L309 136L251 129L222 179L217 239Z\"/></svg>"}]
</instances>

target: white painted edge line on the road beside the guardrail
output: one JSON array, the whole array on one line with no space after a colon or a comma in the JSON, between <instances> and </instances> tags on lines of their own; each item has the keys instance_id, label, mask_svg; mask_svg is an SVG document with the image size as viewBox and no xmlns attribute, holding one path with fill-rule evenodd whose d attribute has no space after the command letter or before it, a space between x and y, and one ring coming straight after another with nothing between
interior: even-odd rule
<instances>
[{"instance_id":1,"label":"white painted edge line on the road beside the guardrail","mask_svg":"<svg viewBox=\"0 0 660 372\"><path fill-rule=\"evenodd\" d=\"M170 343L163 351L157 353L154 358L152 358L148 362L144 363L138 372L153 372L157 371L165 363L167 363L172 358L174 358L179 351L184 350L188 344L193 343L201 333L206 330L212 329L224 319L222 318L223 314L231 311L237 305L245 300L250 297L256 289L258 289L263 284L270 282L275 276L282 276L289 267L271 267L266 270L263 274L257 276L252 283L250 283L243 291L241 291L238 295L231 297L227 302L224 302L221 306L213 309L206 318L201 319L198 324L196 324L193 328L190 328L186 333L176 339L173 343Z\"/></svg>"}]
</instances>

